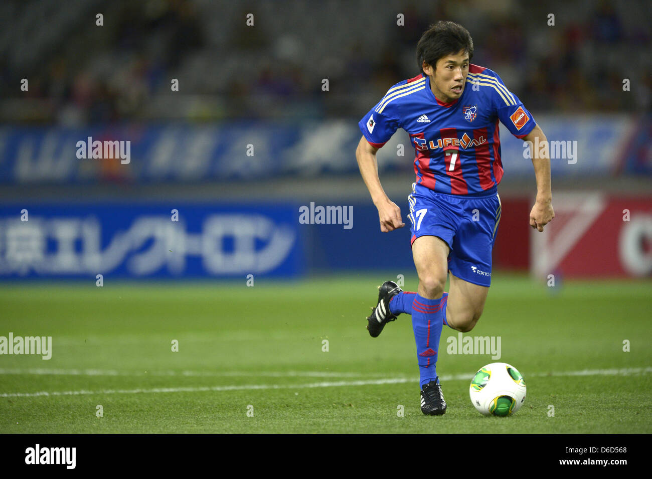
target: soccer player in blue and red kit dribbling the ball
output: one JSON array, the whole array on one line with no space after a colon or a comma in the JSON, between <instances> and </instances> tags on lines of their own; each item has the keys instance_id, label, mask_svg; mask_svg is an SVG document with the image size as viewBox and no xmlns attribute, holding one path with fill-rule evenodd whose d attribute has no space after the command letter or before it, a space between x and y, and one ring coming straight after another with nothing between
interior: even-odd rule
<instances>
[{"instance_id":1,"label":"soccer player in blue and red kit dribbling the ball","mask_svg":"<svg viewBox=\"0 0 652 479\"><path fill-rule=\"evenodd\" d=\"M381 186L376 152L399 127L415 147L417 181L408 196L408 218L419 289L410 293L394 282L383 283L367 329L376 338L400 313L411 314L421 411L431 415L446 411L436 371L443 325L462 332L473 329L491 282L501 214L497 185L503 176L498 121L516 138L546 141L532 114L500 77L471 64L471 58L473 40L462 25L431 25L417 44L421 74L396 83L364 116L355 152L378 208L380 229L387 232L405 224ZM550 159L545 149L541 152L532 158L537 197L529 217L538 231L554 218ZM448 272L451 287L445 293Z\"/></svg>"}]
</instances>

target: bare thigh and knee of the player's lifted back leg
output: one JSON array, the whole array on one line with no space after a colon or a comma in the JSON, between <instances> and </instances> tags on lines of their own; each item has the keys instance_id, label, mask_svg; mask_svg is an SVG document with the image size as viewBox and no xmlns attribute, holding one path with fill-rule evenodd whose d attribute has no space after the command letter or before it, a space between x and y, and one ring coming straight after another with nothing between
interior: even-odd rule
<instances>
[{"instance_id":1,"label":"bare thigh and knee of the player's lifted back leg","mask_svg":"<svg viewBox=\"0 0 652 479\"><path fill-rule=\"evenodd\" d=\"M445 311L447 325L462 332L472 330L482 315L488 292L488 287L469 283L451 273L449 300Z\"/></svg>"}]
</instances>

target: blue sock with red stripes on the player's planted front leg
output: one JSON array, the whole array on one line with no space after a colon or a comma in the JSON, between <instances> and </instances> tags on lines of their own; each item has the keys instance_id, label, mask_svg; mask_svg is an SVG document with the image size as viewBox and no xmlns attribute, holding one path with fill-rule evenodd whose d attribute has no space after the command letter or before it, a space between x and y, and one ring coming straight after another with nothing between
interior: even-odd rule
<instances>
[{"instance_id":1,"label":"blue sock with red stripes on the player's planted front leg","mask_svg":"<svg viewBox=\"0 0 652 479\"><path fill-rule=\"evenodd\" d=\"M421 387L437 379L437 351L443 328L443 297L428 299L415 295L412 304L412 328L417 343L417 362L419 363L419 384Z\"/></svg>"}]
</instances>

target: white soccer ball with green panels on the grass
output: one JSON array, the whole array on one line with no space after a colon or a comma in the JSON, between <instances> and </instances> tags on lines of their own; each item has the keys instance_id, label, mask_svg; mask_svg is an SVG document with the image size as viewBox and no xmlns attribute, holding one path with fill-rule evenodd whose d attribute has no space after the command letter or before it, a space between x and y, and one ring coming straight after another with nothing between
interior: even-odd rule
<instances>
[{"instance_id":1,"label":"white soccer ball with green panels on the grass","mask_svg":"<svg viewBox=\"0 0 652 479\"><path fill-rule=\"evenodd\" d=\"M480 414L509 416L526 400L526 383L514 366L492 362L475 373L469 396Z\"/></svg>"}]
</instances>

